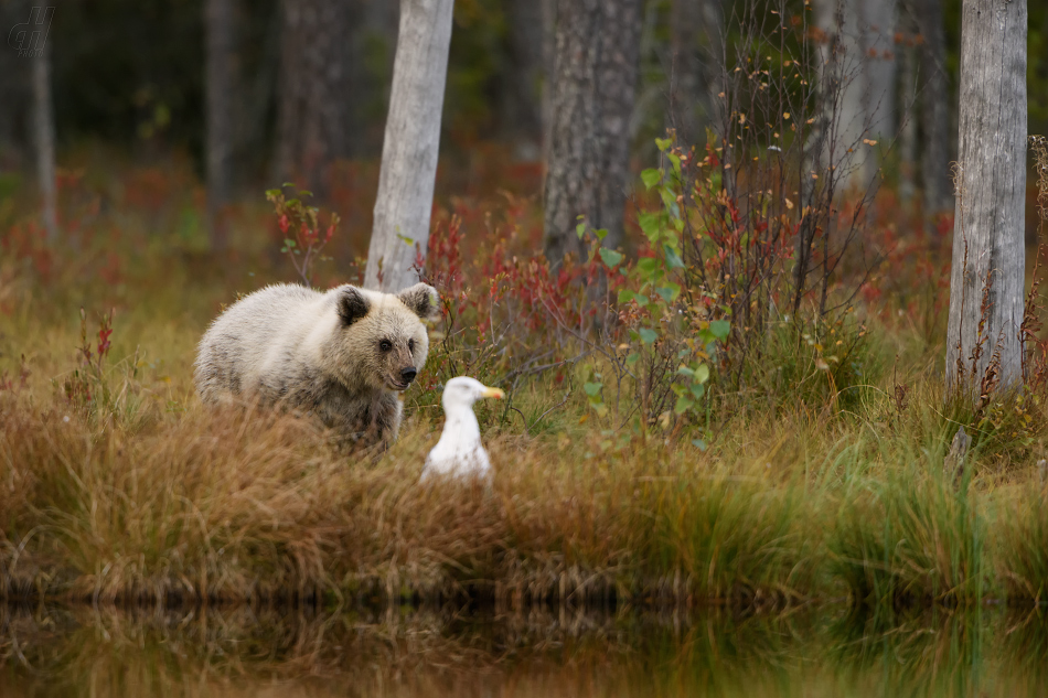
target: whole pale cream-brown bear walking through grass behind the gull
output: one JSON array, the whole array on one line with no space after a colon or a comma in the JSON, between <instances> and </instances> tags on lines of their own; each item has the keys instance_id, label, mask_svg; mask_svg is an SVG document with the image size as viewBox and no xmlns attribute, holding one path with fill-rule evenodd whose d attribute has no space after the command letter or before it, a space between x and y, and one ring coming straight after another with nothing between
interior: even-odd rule
<instances>
[{"instance_id":1,"label":"whole pale cream-brown bear walking through grass behind the gull","mask_svg":"<svg viewBox=\"0 0 1048 698\"><path fill-rule=\"evenodd\" d=\"M429 354L421 320L438 314L437 291L425 283L397 294L270 286L211 324L197 350L196 390L207 404L309 411L347 439L388 444L404 411L397 393Z\"/></svg>"}]
</instances>

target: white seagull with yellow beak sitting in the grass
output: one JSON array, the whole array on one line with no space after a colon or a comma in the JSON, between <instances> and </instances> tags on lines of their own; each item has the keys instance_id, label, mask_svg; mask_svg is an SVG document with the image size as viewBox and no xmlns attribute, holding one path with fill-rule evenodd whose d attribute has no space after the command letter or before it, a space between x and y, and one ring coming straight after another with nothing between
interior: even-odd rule
<instances>
[{"instance_id":1,"label":"white seagull with yellow beak sitting in the grass","mask_svg":"<svg viewBox=\"0 0 1048 698\"><path fill-rule=\"evenodd\" d=\"M440 441L429 452L423 481L435 475L452 477L489 476L491 463L480 442L480 425L473 415L473 402L482 397L502 399L505 394L499 388L489 388L480 380L459 376L443 386L443 432Z\"/></svg>"}]
</instances>

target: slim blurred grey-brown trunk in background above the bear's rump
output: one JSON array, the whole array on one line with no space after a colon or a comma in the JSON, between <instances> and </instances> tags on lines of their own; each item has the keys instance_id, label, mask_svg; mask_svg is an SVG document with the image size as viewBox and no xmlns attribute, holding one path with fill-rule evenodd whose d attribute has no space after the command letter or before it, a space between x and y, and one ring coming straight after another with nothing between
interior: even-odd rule
<instances>
[{"instance_id":1,"label":"slim blurred grey-brown trunk in background above the bear's rump","mask_svg":"<svg viewBox=\"0 0 1048 698\"><path fill-rule=\"evenodd\" d=\"M222 210L233 186L234 115L233 0L206 0L207 36L207 225L212 249L226 246Z\"/></svg>"}]
</instances>

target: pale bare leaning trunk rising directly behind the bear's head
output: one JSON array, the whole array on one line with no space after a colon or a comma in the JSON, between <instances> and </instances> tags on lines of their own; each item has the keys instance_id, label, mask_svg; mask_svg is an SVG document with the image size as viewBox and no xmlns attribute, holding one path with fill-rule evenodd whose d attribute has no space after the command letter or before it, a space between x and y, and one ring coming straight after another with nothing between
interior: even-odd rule
<instances>
[{"instance_id":1,"label":"pale bare leaning trunk rising directly behind the bear's head","mask_svg":"<svg viewBox=\"0 0 1048 698\"><path fill-rule=\"evenodd\" d=\"M418 280L432 211L455 0L403 0L393 92L382 143L364 286L399 291Z\"/></svg>"}]
</instances>

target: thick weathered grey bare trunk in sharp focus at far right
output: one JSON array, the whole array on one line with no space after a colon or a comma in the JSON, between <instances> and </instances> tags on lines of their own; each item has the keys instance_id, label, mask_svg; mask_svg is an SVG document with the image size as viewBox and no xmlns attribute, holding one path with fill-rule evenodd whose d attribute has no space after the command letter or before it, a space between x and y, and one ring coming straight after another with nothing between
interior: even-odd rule
<instances>
[{"instance_id":1,"label":"thick weathered grey bare trunk in sharp focus at far right","mask_svg":"<svg viewBox=\"0 0 1048 698\"><path fill-rule=\"evenodd\" d=\"M1023 376L1026 23L1026 0L964 0L948 390Z\"/></svg>"}]
</instances>

